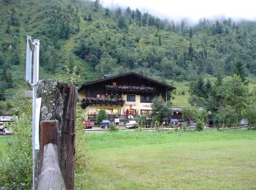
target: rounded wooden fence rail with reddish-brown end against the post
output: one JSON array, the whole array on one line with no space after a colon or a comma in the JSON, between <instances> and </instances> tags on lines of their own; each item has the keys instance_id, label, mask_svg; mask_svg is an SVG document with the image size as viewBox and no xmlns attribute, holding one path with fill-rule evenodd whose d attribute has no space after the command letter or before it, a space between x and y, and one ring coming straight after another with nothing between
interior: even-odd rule
<instances>
[{"instance_id":1,"label":"rounded wooden fence rail with reddish-brown end against the post","mask_svg":"<svg viewBox=\"0 0 256 190\"><path fill-rule=\"evenodd\" d=\"M65 190L66 186L59 167L59 121L41 122L42 169L37 190Z\"/></svg>"}]
</instances>

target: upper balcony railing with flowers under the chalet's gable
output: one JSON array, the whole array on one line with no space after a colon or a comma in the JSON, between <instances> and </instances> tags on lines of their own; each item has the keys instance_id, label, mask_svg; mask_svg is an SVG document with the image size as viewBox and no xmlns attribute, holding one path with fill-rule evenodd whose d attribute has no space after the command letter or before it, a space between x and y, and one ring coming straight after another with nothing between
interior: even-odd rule
<instances>
[{"instance_id":1,"label":"upper balcony railing with flowers under the chalet's gable","mask_svg":"<svg viewBox=\"0 0 256 190\"><path fill-rule=\"evenodd\" d=\"M108 93L154 94L156 88L150 86L111 86L107 85Z\"/></svg>"}]
</instances>

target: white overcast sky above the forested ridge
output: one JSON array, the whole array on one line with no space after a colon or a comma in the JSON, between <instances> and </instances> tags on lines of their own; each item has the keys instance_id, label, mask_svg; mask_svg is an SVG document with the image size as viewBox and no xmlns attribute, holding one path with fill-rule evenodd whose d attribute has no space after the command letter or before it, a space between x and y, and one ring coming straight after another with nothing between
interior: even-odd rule
<instances>
[{"instance_id":1,"label":"white overcast sky above the forested ridge","mask_svg":"<svg viewBox=\"0 0 256 190\"><path fill-rule=\"evenodd\" d=\"M160 18L197 22L200 18L256 20L256 0L100 0L103 7L139 8Z\"/></svg>"}]
</instances>

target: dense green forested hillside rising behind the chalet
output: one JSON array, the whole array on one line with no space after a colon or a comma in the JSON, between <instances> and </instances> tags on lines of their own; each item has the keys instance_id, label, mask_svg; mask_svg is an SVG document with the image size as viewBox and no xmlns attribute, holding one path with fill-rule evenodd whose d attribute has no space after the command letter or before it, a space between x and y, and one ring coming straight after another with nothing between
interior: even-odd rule
<instances>
[{"instance_id":1,"label":"dense green forested hillside rising behind the chalet","mask_svg":"<svg viewBox=\"0 0 256 190\"><path fill-rule=\"evenodd\" d=\"M99 1L0 1L1 113L25 82L26 35L40 40L39 78L78 86L103 75L139 72L162 82L233 75L241 64L256 74L256 22L231 18L161 20L139 9ZM13 110L10 110L13 112Z\"/></svg>"}]
</instances>

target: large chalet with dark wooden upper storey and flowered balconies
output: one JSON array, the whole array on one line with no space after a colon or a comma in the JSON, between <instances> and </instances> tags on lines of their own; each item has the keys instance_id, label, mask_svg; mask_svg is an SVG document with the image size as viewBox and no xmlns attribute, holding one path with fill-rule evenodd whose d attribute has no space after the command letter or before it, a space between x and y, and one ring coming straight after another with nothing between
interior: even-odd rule
<instances>
[{"instance_id":1,"label":"large chalet with dark wooden upper storey and flowered balconies","mask_svg":"<svg viewBox=\"0 0 256 190\"><path fill-rule=\"evenodd\" d=\"M110 120L129 120L140 114L151 116L152 99L161 95L168 100L168 92L176 89L135 72L84 83L78 89L84 112L94 121L104 109Z\"/></svg>"}]
</instances>

